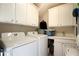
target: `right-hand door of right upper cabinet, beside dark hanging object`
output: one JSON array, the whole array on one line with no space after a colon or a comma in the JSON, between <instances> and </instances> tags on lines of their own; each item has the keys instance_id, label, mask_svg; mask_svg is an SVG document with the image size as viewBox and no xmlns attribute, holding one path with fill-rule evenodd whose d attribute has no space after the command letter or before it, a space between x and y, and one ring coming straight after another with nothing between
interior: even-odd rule
<instances>
[{"instance_id":1,"label":"right-hand door of right upper cabinet, beside dark hanging object","mask_svg":"<svg viewBox=\"0 0 79 59\"><path fill-rule=\"evenodd\" d=\"M75 19L72 15L74 5L73 4L64 4L62 5L62 12L63 12L63 26L71 26L75 25Z\"/></svg>"}]
</instances>

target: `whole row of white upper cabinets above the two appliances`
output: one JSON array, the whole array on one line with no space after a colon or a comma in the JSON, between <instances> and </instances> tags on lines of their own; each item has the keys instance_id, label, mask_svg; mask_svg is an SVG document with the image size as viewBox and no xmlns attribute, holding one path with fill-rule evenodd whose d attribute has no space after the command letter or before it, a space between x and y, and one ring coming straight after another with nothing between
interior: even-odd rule
<instances>
[{"instance_id":1,"label":"whole row of white upper cabinets above the two appliances","mask_svg":"<svg viewBox=\"0 0 79 59\"><path fill-rule=\"evenodd\" d=\"M29 3L1 3L0 22L38 26L38 8Z\"/></svg>"}]
</instances>

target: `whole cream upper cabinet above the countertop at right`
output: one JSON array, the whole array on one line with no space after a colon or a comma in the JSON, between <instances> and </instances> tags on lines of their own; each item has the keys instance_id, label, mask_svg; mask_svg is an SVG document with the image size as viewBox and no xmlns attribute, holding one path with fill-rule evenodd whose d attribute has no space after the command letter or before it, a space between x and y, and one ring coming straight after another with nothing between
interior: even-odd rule
<instances>
[{"instance_id":1,"label":"whole cream upper cabinet above the countertop at right","mask_svg":"<svg viewBox=\"0 0 79 59\"><path fill-rule=\"evenodd\" d=\"M74 26L75 18L72 15L73 4L63 4L49 9L49 27Z\"/></svg>"}]
</instances>

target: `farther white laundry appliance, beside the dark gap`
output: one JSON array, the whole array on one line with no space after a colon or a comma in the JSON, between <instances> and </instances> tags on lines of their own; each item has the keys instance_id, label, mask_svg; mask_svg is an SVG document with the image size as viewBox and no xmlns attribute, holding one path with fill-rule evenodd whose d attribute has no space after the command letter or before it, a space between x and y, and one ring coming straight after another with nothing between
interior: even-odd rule
<instances>
[{"instance_id":1,"label":"farther white laundry appliance, beside the dark gap","mask_svg":"<svg viewBox=\"0 0 79 59\"><path fill-rule=\"evenodd\" d=\"M27 35L34 36L38 39L38 55L48 55L48 37L44 34L38 34L36 31L28 32Z\"/></svg>"}]
</instances>

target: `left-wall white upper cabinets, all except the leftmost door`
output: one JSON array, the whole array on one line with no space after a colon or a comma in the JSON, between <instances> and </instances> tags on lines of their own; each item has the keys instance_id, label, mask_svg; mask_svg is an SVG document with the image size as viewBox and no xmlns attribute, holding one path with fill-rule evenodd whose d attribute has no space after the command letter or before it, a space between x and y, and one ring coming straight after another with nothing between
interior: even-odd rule
<instances>
[{"instance_id":1,"label":"left-wall white upper cabinets, all except the leftmost door","mask_svg":"<svg viewBox=\"0 0 79 59\"><path fill-rule=\"evenodd\" d=\"M16 3L16 23L38 26L38 9L30 3Z\"/></svg>"}]
</instances>

